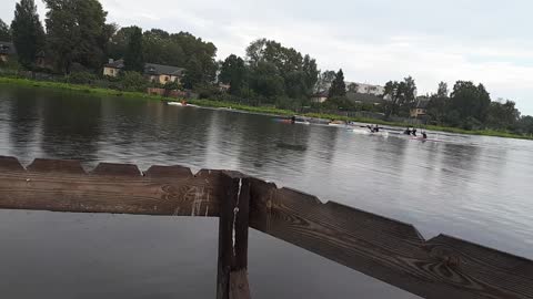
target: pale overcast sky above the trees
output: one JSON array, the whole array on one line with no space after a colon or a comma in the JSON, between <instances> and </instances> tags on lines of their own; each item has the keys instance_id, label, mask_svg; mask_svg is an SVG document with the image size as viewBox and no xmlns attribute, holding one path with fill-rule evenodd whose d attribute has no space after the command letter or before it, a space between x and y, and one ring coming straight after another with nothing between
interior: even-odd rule
<instances>
[{"instance_id":1,"label":"pale overcast sky above the trees","mask_svg":"<svg viewBox=\"0 0 533 299\"><path fill-rule=\"evenodd\" d=\"M36 0L41 19L44 6ZM482 82L533 114L533 1L530 0L101 0L125 27L189 31L212 41L219 59L274 39L342 68L346 81L384 84L412 75L419 94L440 81ZM0 0L10 22L14 0Z\"/></svg>"}]
</instances>

